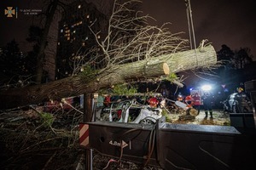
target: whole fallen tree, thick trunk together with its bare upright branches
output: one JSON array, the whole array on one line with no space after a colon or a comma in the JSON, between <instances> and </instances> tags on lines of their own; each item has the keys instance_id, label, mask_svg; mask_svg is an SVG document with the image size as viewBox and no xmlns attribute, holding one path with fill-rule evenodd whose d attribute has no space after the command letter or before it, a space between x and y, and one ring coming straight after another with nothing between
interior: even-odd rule
<instances>
[{"instance_id":1,"label":"whole fallen tree, thick trunk together with its bare upright branches","mask_svg":"<svg viewBox=\"0 0 256 170\"><path fill-rule=\"evenodd\" d=\"M131 3L139 1L122 4L114 1L105 37L99 38L101 32L91 30L98 47L90 49L89 61L77 65L78 74L42 85L2 91L1 108L90 94L120 83L159 80L179 71L216 65L217 56L211 45L186 51L187 40L169 31L166 25L149 26L150 17L134 13L129 8ZM122 15L130 12L135 14L130 15L132 18ZM96 63L98 69L91 68L91 63ZM178 83L177 78L172 81Z\"/></svg>"}]
</instances>

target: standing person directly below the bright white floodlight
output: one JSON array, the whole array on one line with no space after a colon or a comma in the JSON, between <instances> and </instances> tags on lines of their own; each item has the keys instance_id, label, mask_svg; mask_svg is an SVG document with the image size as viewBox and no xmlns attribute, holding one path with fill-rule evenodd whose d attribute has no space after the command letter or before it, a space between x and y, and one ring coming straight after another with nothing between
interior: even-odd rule
<instances>
[{"instance_id":1,"label":"standing person directly below the bright white floodlight","mask_svg":"<svg viewBox=\"0 0 256 170\"><path fill-rule=\"evenodd\" d=\"M213 101L213 96L209 91L205 91L204 94L202 95L203 99L203 106L205 110L205 118L208 116L208 112L210 113L210 118L212 119L212 101Z\"/></svg>"}]
</instances>

